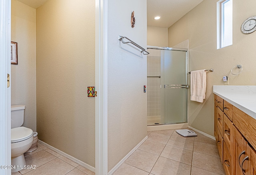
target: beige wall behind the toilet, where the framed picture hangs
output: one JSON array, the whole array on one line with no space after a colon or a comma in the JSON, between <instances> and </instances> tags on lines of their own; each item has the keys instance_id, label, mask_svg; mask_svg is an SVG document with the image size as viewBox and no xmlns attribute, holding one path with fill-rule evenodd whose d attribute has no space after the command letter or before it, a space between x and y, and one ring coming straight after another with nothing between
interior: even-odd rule
<instances>
[{"instance_id":1,"label":"beige wall behind the toilet, where the framed picture hangs","mask_svg":"<svg viewBox=\"0 0 256 175\"><path fill-rule=\"evenodd\" d=\"M12 0L11 40L18 65L11 66L11 104L26 105L23 126L36 131L36 9Z\"/></svg>"}]
</instances>

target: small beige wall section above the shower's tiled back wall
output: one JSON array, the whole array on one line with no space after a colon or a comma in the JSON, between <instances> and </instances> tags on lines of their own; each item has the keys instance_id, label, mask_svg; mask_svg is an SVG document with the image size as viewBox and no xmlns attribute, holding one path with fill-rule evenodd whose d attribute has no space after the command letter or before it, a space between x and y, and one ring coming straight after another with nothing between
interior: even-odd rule
<instances>
[{"instance_id":1,"label":"small beige wall section above the shower's tiled back wall","mask_svg":"<svg viewBox=\"0 0 256 175\"><path fill-rule=\"evenodd\" d=\"M148 26L147 45L168 47L168 28Z\"/></svg>"}]
</instances>

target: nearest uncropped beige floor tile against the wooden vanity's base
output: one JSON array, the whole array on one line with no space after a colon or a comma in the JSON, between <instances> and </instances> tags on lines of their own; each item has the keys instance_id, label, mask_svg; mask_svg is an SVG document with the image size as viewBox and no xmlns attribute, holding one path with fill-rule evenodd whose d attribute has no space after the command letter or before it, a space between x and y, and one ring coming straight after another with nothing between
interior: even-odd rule
<instances>
[{"instance_id":1,"label":"nearest uncropped beige floor tile against the wooden vanity's base","mask_svg":"<svg viewBox=\"0 0 256 175\"><path fill-rule=\"evenodd\" d=\"M220 157L194 152L192 166L225 175Z\"/></svg>"}]
</instances>

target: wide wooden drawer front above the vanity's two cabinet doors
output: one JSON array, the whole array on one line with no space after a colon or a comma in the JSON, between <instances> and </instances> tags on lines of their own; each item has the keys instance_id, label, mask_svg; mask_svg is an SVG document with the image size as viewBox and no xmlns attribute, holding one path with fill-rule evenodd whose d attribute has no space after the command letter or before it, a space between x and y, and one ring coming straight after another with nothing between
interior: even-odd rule
<instances>
[{"instance_id":1,"label":"wide wooden drawer front above the vanity's two cabinet doors","mask_svg":"<svg viewBox=\"0 0 256 175\"><path fill-rule=\"evenodd\" d=\"M252 147L256 149L256 119L233 106L233 123Z\"/></svg>"}]
</instances>

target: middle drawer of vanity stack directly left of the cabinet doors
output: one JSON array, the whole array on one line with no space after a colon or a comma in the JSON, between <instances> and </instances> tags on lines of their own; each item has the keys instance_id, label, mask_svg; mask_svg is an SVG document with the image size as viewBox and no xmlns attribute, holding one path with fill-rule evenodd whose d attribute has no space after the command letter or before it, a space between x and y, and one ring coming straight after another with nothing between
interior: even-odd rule
<instances>
[{"instance_id":1,"label":"middle drawer of vanity stack directly left of the cabinet doors","mask_svg":"<svg viewBox=\"0 0 256 175\"><path fill-rule=\"evenodd\" d=\"M225 113L223 113L223 139L228 151L232 153L231 140L233 139L233 123L228 119Z\"/></svg>"}]
</instances>

